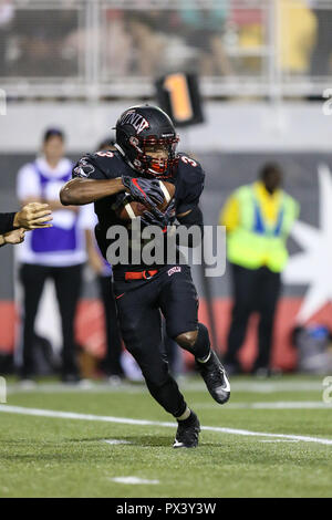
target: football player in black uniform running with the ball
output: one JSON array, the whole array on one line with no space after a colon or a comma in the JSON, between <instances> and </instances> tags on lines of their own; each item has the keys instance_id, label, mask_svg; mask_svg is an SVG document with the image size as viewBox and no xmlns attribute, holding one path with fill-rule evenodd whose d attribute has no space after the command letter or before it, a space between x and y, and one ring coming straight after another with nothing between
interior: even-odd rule
<instances>
[{"instance_id":1,"label":"football player in black uniform running with the ball","mask_svg":"<svg viewBox=\"0 0 332 520\"><path fill-rule=\"evenodd\" d=\"M198 207L204 171L197 160L176 153L178 136L168 115L156 106L141 105L125 111L116 123L115 152L82 157L73 179L61 190L63 205L94 202L98 223L96 239L103 256L110 240L107 229L124 225L116 202L129 193L149 206L144 225L165 229L175 216L183 226L199 226ZM164 194L158 180L175 185L174 201L165 212L158 209ZM166 232L167 233L167 232ZM189 247L194 243L189 243ZM198 297L187 264L117 264L113 267L114 288L122 335L137 361L152 396L178 423L175 448L193 448L200 430L196 414L187 406L162 355L160 312L169 337L194 354L206 386L219 404L228 401L229 382L216 353L210 349L207 327L198 322Z\"/></svg>"}]
</instances>

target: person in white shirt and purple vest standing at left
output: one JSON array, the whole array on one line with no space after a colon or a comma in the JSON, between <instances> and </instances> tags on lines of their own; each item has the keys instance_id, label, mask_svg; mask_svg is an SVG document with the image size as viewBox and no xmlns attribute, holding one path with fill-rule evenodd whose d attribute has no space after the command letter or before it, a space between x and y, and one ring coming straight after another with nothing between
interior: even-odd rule
<instances>
[{"instance_id":1,"label":"person in white shirt and purple vest standing at left","mask_svg":"<svg viewBox=\"0 0 332 520\"><path fill-rule=\"evenodd\" d=\"M85 233L80 225L84 207L62 206L61 187L71 179L72 163L64 157L64 135L50 128L43 137L42 155L18 174L17 191L22 205L46 202L53 220L50 229L25 235L18 246L23 298L22 379L34 375L34 321L45 280L54 281L62 320L62 381L80 381L74 342L74 318L81 291L82 267L86 261Z\"/></svg>"}]
</instances>

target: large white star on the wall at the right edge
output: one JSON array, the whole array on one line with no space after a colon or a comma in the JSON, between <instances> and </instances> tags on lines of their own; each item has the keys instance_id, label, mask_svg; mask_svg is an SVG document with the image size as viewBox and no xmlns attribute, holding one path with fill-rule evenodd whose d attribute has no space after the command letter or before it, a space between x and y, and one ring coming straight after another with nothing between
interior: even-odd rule
<instances>
[{"instance_id":1,"label":"large white star on the wall at the right edge","mask_svg":"<svg viewBox=\"0 0 332 520\"><path fill-rule=\"evenodd\" d=\"M304 250L290 257L283 273L286 283L309 284L297 321L305 322L332 301L332 178L329 166L318 167L320 228L297 221L291 236Z\"/></svg>"}]
</instances>

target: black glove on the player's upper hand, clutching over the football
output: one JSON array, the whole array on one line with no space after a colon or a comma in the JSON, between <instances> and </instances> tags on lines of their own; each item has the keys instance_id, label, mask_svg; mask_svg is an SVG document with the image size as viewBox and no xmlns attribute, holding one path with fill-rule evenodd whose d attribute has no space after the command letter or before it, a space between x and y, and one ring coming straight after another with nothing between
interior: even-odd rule
<instances>
[{"instance_id":1,"label":"black glove on the player's upper hand, clutching over the football","mask_svg":"<svg viewBox=\"0 0 332 520\"><path fill-rule=\"evenodd\" d=\"M157 179L133 178L123 175L122 183L135 200L151 206L152 210L157 209L157 205L164 202L164 194Z\"/></svg>"}]
</instances>

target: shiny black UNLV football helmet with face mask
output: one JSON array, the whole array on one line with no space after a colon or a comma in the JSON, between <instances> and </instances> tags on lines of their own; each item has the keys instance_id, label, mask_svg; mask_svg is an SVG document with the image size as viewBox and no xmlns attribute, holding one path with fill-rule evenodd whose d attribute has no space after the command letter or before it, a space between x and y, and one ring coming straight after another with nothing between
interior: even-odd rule
<instances>
[{"instance_id":1,"label":"shiny black UNLV football helmet with face mask","mask_svg":"<svg viewBox=\"0 0 332 520\"><path fill-rule=\"evenodd\" d=\"M132 106L120 116L115 131L115 146L134 169L158 178L173 177L179 138L164 111L151 105ZM165 147L167 158L152 157L146 153L147 146Z\"/></svg>"}]
</instances>

